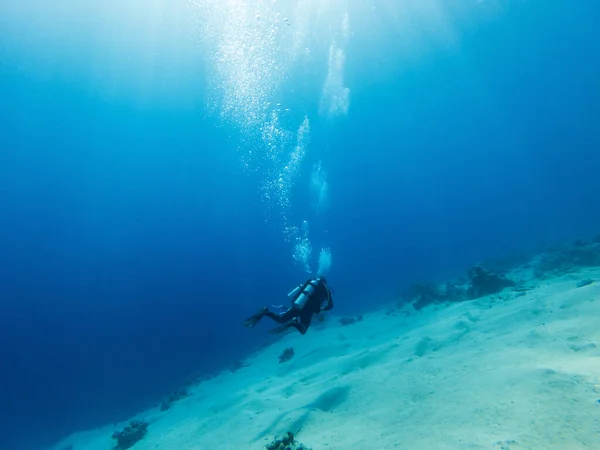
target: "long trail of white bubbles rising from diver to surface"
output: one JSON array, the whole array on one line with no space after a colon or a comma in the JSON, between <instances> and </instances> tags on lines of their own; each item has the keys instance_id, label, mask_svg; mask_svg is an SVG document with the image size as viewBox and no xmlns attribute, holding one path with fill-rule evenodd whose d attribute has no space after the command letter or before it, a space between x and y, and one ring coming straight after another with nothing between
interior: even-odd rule
<instances>
[{"instance_id":1,"label":"long trail of white bubbles rising from diver to surface","mask_svg":"<svg viewBox=\"0 0 600 450\"><path fill-rule=\"evenodd\" d=\"M300 230L290 220L291 191L309 146L310 122L304 117L294 143L294 133L282 125L282 114L289 110L280 104L281 90L291 78L294 64L309 61L307 43L316 45L322 41L318 36L321 31L330 28L329 24L322 27L322 21L329 21L332 14L339 17L345 5L330 0L299 0L294 4L278 0L189 2L194 7L199 41L207 59L208 110L219 116L222 124L240 131L239 158L248 172L263 177L259 191L267 220L281 226L284 239L295 245L294 259L310 271L308 230ZM294 15L291 21L282 14L282 8L290 6L288 13ZM346 13L341 32L336 33L329 48L320 98L321 113L327 116L346 114L348 110L349 89L343 78L348 35ZM327 203L328 183L321 163L313 175L312 189L317 208L322 209Z\"/></svg>"}]
</instances>

